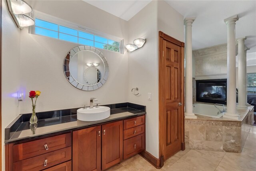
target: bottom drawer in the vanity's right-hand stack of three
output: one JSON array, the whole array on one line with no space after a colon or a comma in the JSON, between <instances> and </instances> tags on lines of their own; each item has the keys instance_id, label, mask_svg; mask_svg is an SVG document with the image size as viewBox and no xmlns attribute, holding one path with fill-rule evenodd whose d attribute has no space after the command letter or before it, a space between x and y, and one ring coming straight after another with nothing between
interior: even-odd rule
<instances>
[{"instance_id":1,"label":"bottom drawer in the vanity's right-hand stack of three","mask_svg":"<svg viewBox=\"0 0 256 171\"><path fill-rule=\"evenodd\" d=\"M145 133L124 140L124 159L145 149Z\"/></svg>"}]
</instances>

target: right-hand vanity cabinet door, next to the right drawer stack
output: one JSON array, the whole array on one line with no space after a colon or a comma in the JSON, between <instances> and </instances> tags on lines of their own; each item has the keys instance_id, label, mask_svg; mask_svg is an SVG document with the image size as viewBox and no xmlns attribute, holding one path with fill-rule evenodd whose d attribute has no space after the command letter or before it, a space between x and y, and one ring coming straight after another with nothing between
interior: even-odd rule
<instances>
[{"instance_id":1,"label":"right-hand vanity cabinet door, next to the right drawer stack","mask_svg":"<svg viewBox=\"0 0 256 171\"><path fill-rule=\"evenodd\" d=\"M102 125L102 170L123 159L123 121Z\"/></svg>"}]
</instances>

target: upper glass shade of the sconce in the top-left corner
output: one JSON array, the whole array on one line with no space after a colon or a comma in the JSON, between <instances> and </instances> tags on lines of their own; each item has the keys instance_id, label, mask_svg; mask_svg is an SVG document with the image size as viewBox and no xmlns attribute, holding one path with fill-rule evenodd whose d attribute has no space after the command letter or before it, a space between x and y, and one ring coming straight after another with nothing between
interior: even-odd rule
<instances>
[{"instance_id":1,"label":"upper glass shade of the sconce in the top-left corner","mask_svg":"<svg viewBox=\"0 0 256 171\"><path fill-rule=\"evenodd\" d=\"M24 0L10 0L14 14L27 14L32 12L32 7Z\"/></svg>"}]
</instances>

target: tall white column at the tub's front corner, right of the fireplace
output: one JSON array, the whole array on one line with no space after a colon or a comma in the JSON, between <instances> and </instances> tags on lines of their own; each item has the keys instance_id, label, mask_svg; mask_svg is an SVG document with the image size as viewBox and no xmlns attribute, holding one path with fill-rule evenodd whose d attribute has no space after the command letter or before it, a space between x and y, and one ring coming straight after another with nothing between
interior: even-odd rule
<instances>
[{"instance_id":1,"label":"tall white column at the tub's front corner, right of the fireplace","mask_svg":"<svg viewBox=\"0 0 256 171\"><path fill-rule=\"evenodd\" d=\"M224 20L228 28L228 78L227 78L227 112L223 117L230 119L239 119L236 113L236 32L235 25L238 16L232 16ZM238 90L239 91L239 90Z\"/></svg>"}]
</instances>

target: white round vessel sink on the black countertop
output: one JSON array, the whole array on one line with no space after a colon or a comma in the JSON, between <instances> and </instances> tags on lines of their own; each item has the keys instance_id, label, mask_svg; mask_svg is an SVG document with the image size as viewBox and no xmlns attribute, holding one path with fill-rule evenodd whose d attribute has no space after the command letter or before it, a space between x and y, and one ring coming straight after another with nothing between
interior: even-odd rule
<instances>
[{"instance_id":1,"label":"white round vessel sink on the black countertop","mask_svg":"<svg viewBox=\"0 0 256 171\"><path fill-rule=\"evenodd\" d=\"M99 106L93 108L80 108L77 110L77 119L80 121L99 121L110 117L110 108Z\"/></svg>"}]
</instances>

